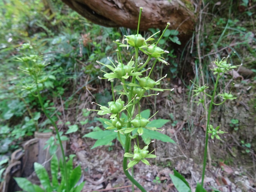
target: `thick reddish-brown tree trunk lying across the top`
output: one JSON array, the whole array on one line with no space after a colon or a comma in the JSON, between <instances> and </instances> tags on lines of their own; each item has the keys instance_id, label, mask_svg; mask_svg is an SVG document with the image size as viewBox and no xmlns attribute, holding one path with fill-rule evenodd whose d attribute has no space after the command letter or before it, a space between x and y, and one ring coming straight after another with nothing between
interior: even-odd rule
<instances>
[{"instance_id":1,"label":"thick reddish-brown tree trunk lying across the top","mask_svg":"<svg viewBox=\"0 0 256 192\"><path fill-rule=\"evenodd\" d=\"M140 7L143 7L140 30L177 29L180 38L188 38L194 30L195 15L186 5L188 0L62 0L70 8L93 23L106 27L137 29Z\"/></svg>"}]
</instances>

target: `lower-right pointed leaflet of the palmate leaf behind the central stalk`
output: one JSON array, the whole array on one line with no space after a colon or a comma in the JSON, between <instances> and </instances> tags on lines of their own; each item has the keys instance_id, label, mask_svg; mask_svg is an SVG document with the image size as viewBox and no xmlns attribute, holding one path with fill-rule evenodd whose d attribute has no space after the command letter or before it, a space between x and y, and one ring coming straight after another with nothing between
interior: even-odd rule
<instances>
[{"instance_id":1,"label":"lower-right pointed leaflet of the palmate leaf behind the central stalk","mask_svg":"<svg viewBox=\"0 0 256 192\"><path fill-rule=\"evenodd\" d=\"M172 140L169 136L167 136L163 133L160 133L158 131L152 131L149 129L144 129L144 133L143 133L143 135L141 135L141 137L144 140L144 142L146 142L147 138L150 138L150 139L161 140L163 142L175 143L175 141Z\"/></svg>"}]
</instances>

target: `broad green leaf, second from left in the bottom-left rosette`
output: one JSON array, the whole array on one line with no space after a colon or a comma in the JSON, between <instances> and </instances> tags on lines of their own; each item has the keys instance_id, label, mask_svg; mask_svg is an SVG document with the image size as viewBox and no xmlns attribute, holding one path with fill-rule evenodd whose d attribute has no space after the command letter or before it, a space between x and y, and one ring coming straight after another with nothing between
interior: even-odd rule
<instances>
[{"instance_id":1,"label":"broad green leaf, second from left in the bottom-left rosette","mask_svg":"<svg viewBox=\"0 0 256 192\"><path fill-rule=\"evenodd\" d=\"M35 169L36 175L37 175L38 179L40 180L40 183L44 187L44 189L47 192L52 192L53 190L52 190L52 186L50 183L49 175L48 175L47 171L45 170L45 168L43 167L43 165L35 162L34 169Z\"/></svg>"}]
</instances>

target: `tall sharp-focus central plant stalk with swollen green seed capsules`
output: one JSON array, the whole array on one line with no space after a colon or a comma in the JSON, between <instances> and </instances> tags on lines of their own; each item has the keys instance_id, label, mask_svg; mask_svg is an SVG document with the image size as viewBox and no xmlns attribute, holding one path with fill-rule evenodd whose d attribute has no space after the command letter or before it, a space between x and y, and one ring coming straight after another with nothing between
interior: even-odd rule
<instances>
[{"instance_id":1,"label":"tall sharp-focus central plant stalk with swollen green seed capsules","mask_svg":"<svg viewBox=\"0 0 256 192\"><path fill-rule=\"evenodd\" d=\"M117 60L113 62L108 58L108 60L110 61L109 65L97 61L98 64L105 66L110 71L108 72L102 70L104 75L103 77L98 78L108 79L108 81L110 81L113 100L108 102L108 106L102 106L100 104L92 102L92 104L98 105L100 107L100 110L87 110L97 111L97 114L100 116L109 116L110 121L104 118L101 118L101 120L107 125L106 130L108 132L110 130L114 130L117 133L117 138L120 141L121 145L124 147L124 173L134 185L136 185L141 191L146 192L146 190L130 175L128 169L132 168L135 164L140 163L140 161L144 164L150 165L146 158L156 158L156 155L151 154L154 150L150 153L147 150L151 142L148 142L147 138L145 138L143 134L147 134L148 132L161 129L150 126L151 121L149 119L152 118L157 112L150 118L144 118L142 116L142 113L140 113L140 101L144 97L149 97L152 95L157 96L159 94L148 94L148 90L151 90L152 92L163 92L172 91L173 89L156 88L156 85L159 85L160 81L167 75L156 81L151 77L152 71L155 68L157 62L160 61L166 65L169 64L164 60L164 57L162 57L162 55L166 53L166 51L158 47L157 44L162 38L170 23L167 23L163 34L157 41L155 41L155 39L152 37L159 32L145 39L141 34L139 34L141 12L142 7L140 8L137 34L124 36L122 43L119 40L114 41L114 43L116 43L117 45ZM149 42L151 44L149 44ZM132 56L131 59L128 59L129 62L124 62L124 59L122 58L121 48L123 47L127 48L127 50L135 50L135 57ZM146 61L139 63L139 51L141 52L141 54L144 53L148 57ZM149 66L149 64L151 63L149 62L150 60L154 60L152 66ZM145 75L146 72L148 73L148 75ZM120 82L123 87L123 91L115 90L114 82ZM119 95L118 99L115 98L115 94ZM126 99L124 99L125 97ZM135 111L138 111L138 113L135 114ZM124 115L125 112L126 115ZM123 118L124 116L126 118ZM156 132L155 135L159 136L159 134L162 133ZM122 141L121 135L122 137L125 137L124 142ZM86 136L88 136L88 134ZM147 145L144 146L142 149L139 147L139 138L142 138L144 141L147 140ZM134 144L133 151L130 148L132 139L137 140L137 143ZM168 142L174 143L174 141L171 139ZM128 159L130 163L128 163L127 165Z\"/></svg>"}]
</instances>

